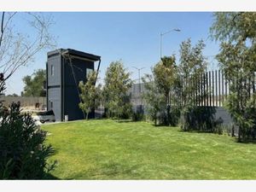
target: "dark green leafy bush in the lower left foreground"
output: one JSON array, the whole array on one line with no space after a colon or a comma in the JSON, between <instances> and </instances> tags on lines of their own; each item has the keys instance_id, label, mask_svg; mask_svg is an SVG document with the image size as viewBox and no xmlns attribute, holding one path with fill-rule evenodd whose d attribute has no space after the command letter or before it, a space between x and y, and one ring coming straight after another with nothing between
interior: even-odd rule
<instances>
[{"instance_id":1,"label":"dark green leafy bush in the lower left foreground","mask_svg":"<svg viewBox=\"0 0 256 192\"><path fill-rule=\"evenodd\" d=\"M0 104L0 179L43 179L55 167L47 163L54 153L44 145L46 131L35 125L29 113L20 113L20 104Z\"/></svg>"}]
</instances>

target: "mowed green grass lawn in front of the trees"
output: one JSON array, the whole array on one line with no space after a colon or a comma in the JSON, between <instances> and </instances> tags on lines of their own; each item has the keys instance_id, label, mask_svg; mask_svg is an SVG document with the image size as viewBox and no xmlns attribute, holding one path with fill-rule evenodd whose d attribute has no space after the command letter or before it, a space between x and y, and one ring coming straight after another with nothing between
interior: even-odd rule
<instances>
[{"instance_id":1,"label":"mowed green grass lawn in front of the trees","mask_svg":"<svg viewBox=\"0 0 256 192\"><path fill-rule=\"evenodd\" d=\"M60 179L256 179L256 145L113 120L43 125Z\"/></svg>"}]
</instances>

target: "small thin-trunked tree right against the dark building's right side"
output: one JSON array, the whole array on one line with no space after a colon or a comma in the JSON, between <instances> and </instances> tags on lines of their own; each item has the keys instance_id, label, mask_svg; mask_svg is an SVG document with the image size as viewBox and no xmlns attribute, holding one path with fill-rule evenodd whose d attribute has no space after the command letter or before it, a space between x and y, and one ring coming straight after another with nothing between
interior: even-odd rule
<instances>
[{"instance_id":1,"label":"small thin-trunked tree right against the dark building's right side","mask_svg":"<svg viewBox=\"0 0 256 192\"><path fill-rule=\"evenodd\" d=\"M88 78L79 82L79 89L81 91L79 108L86 113L86 120L89 113L100 105L102 98L101 84L96 86L96 72L89 73Z\"/></svg>"}]
</instances>

